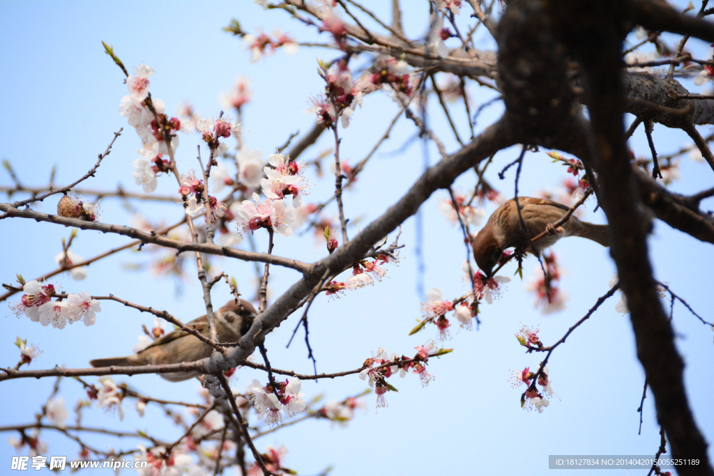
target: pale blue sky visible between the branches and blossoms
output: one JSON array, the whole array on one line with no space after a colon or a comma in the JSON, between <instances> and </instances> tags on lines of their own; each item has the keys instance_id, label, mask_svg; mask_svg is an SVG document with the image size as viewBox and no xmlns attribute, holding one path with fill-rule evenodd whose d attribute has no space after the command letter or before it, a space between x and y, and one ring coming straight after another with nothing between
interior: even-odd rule
<instances>
[{"instance_id":1,"label":"pale blue sky visible between the branches and blossoms","mask_svg":"<svg viewBox=\"0 0 714 476\"><path fill-rule=\"evenodd\" d=\"M409 0L410 2L412 0ZM366 1L368 6L382 2ZM419 9L406 12L406 30L412 36L426 29L426 2ZM467 9L468 10L468 9ZM466 10L462 13L468 18ZM308 98L323 87L316 74L316 59L331 60L336 51L301 48L297 54L278 51L273 56L251 64L250 54L239 39L221 31L231 18L241 21L246 31L274 29L288 31L301 41L326 41L301 24L289 21L281 11L265 12L251 1L202 2L199 7L189 2L34 2L5 1L0 4L0 98L4 112L0 116L0 156L8 160L22 183L43 186L49 180L51 168L56 166L56 184L71 183L83 175L104 151L115 131L124 133L99 168L95 178L86 182L88 188L115 189L121 184L127 191L140 192L131 178L132 161L137 158L139 138L119 116L121 97L126 94L121 71L106 56L101 41L114 46L116 54L128 69L142 62L154 67L151 91L161 98L170 113L183 101L190 101L203 116L215 116L221 110L219 93L231 87L236 76L248 77L254 93L253 100L243 114L243 139L249 148L258 148L267 158L276 147L296 131L307 131L313 118L302 113ZM482 34L486 32L483 31ZM493 48L486 36L478 46ZM691 41L695 51L710 50L700 42ZM358 58L351 66L366 65L367 58ZM689 81L685 87L693 92L704 92ZM472 88L473 100L491 97L481 89ZM479 119L483 128L497 118L501 106L489 108ZM429 104L431 127L444 138L448 151L456 151L443 114L436 101ZM462 108L452 106L461 132L466 132L466 118ZM397 113L395 103L382 94L368 96L363 108L353 116L351 126L341 130L341 154L351 163L361 160L381 137L388 123ZM703 134L710 127L702 128ZM402 119L373 161L368 164L359 181L347 191L346 213L362 226L377 218L387 206L408 190L421 173L421 143L413 142L403 153L396 151L415 133L413 126ZM680 131L655 126L658 151L675 151L688 141ZM185 170L196 167L197 136L184 136L178 148L178 163ZM315 158L333 147L325 134L309 149L303 159ZM638 155L648 157L648 148L641 131L632 143ZM205 148L203 153L206 153ZM498 153L489 180L507 196L513 196L511 169L504 181L496 173L516 158L513 148ZM430 148L431 163L438 154ZM673 191L695 193L711 186L711 171L703 163L681 158L682 178L673 183ZM318 179L306 201L319 202L331 196L331 179ZM552 164L545 153L528 154L523 168L520 190L524 195L535 195L543 188L555 189L565 178L565 169ZM475 181L473 173L458 179L456 189L468 191ZM0 173L0 184L9 185L9 176ZM176 183L164 178L156 193L175 194ZM416 336L408 336L420 318L417 292L418 279L426 289L441 288L448 298L456 298L467 288L462 282L461 263L466 253L458 228L452 226L438 212L442 192L423 206L423 253L426 272L418 278L418 259L415 255L415 221L403 226L401 263L388 268L387 278L374 288L348 293L342 298L318 298L311 308L311 345L316 350L318 371L335 372L358 368L378 347L388 353L410 355L416 345L436 337L432 327ZM14 199L14 198L13 198ZM177 196L178 201L178 196ZM116 198L102 202L101 221L131 224L131 211ZM45 213L53 213L56 198L49 198L39 206ZM161 205L131 202L154 220L164 218L169 223L178 221L182 209L172 203ZM603 223L601 212L593 213L593 202L588 203L586 219ZM714 201L703 202L703 208L714 208ZM489 208L487 213L491 213ZM335 209L328 211L335 217ZM19 273L26 279L54 269L54 256L61 250L61 238L70 230L47 223L14 219L0 221L0 240L6 250L1 266L2 283L14 281ZM356 229L351 230L351 235ZM265 250L267 234L256 232L258 250ZM73 250L86 257L126 243L126 238L83 231L75 240ZM323 245L316 245L312 233L291 238L278 237L275 253L311 262L325 255ZM649 240L655 276L668 282L670 288L703 315L712 320L714 308L711 293L710 268L714 263L711 246L674 231L664 223L655 222ZM242 246L247 245L244 241ZM354 475L369 472L373 475L428 474L434 472L483 472L508 474L527 470L534 475L548 471L548 455L651 455L659 445L659 427L648 393L644 405L642 435L638 435L643 371L636 359L633 333L628 316L614 310L617 298L608 300L553 353L548 367L555 392L545 412L521 410L518 399L521 391L513 390L507 382L511 370L526 366L535 368L540 355L526 355L513 334L526 325L539 325L540 338L545 345L558 340L608 290L614 266L607 250L595 243L578 238L560 241L554 248L567 273L562 287L569 300L563 312L541 315L533 308L533 298L522 283L514 279L506 292L493 305L482 310L481 328L476 331L454 332L444 343L454 352L429 365L436 375L427 388L421 388L416 376L393 383L399 392L388 393L389 406L377 412L374 395L366 397L367 409L357 413L346 428L331 426L326 421L309 421L286 427L256 442L259 449L266 445L286 445L289 450L286 466L300 474L318 474L328 466L333 475ZM186 257L186 279L177 295L176 283L171 279L156 279L148 273L130 268L147 263L152 258L148 251L126 251L91 265L89 277L75 282L66 275L54 279L69 292L86 290L91 294L114 293L136 303L151 305L190 320L202 312L201 290L195 278L195 266ZM228 260L215 265L236 277L243 293L251 289L253 268L250 263ZM526 261L526 281L537 263ZM512 275L513 268L504 274ZM271 270L271 295L279 295L298 278L291 270ZM215 302L228 299L225 286L216 286ZM11 300L13 301L13 300ZM668 303L667 303L668 304ZM127 355L141 333L141 325L153 325L153 319L124 308L117 303L102 303L96 325L86 328L73 325L64 330L44 328L27 318L15 318L10 310L4 313L0 333L0 365L14 365L17 348L12 345L16 336L39 345L44 353L31 368L51 368L66 365L84 368L91 358ZM303 373L312 370L306 358L302 331L286 348L291 331L299 316L293 315L266 340L271 361L277 368L289 368ZM710 405L711 362L714 356L712 331L699 323L679 303L674 308L673 325L677 333L678 350L686 362L685 380L690 405L701 430L708 440L714 434L714 407ZM453 329L456 325L452 326ZM259 360L259 358L258 358ZM232 383L243 390L253 378L266 380L260 373L241 369ZM96 382L96 378L86 379ZM155 375L132 378L117 377L142 393L164 398L197 401L196 380L169 384ZM0 384L0 402L6 409L0 426L30 422L46 400L54 379L12 380ZM307 397L323 395L325 400L341 400L366 388L356 376L334 381L303 383ZM72 405L82 397L81 386L66 379L61 393ZM69 406L69 405L68 405ZM71 409L70 409L71 410ZM126 417L119 422L116 415L105 414L92 407L84 411L84 423L106 426L116 430L146 429L171 440L180 430L167 422L158 407L149 408L139 418L131 405L125 405ZM0 440L0 467L10 464L14 450ZM76 455L77 445L61 435L44 432L49 442L50 455ZM89 438L98 447L111 445L126 450L136 446L131 439L107 440ZM714 453L712 453L714 455ZM625 474L625 471L612 474ZM630 472L630 474L639 474ZM645 474L645 472L642 472Z\"/></svg>"}]
</instances>

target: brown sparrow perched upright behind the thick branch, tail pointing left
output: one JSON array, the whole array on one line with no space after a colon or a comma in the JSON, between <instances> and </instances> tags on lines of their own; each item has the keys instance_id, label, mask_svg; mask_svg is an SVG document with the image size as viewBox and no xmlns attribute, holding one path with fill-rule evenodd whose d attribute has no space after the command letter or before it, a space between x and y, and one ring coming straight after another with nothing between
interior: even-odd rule
<instances>
[{"instance_id":1,"label":"brown sparrow perched upright behind the thick branch, tail pointing left","mask_svg":"<svg viewBox=\"0 0 714 476\"><path fill-rule=\"evenodd\" d=\"M253 305L246 300L241 299L237 303L235 300L230 300L218 309L215 315L218 342L236 342L251 328L253 318L256 316L256 308L253 308ZM198 332L208 338L211 337L206 315L191 320L186 325L196 328ZM141 365L176 364L201 360L209 357L211 353L213 353L213 348L210 345L201 342L184 330L176 329L154 340L148 347L134 355L90 360L89 365L92 367L111 367L112 365L138 367ZM169 382L181 382L181 380L188 380L198 375L200 375L198 372L174 372L162 373L161 378L169 380Z\"/></svg>"}]
</instances>

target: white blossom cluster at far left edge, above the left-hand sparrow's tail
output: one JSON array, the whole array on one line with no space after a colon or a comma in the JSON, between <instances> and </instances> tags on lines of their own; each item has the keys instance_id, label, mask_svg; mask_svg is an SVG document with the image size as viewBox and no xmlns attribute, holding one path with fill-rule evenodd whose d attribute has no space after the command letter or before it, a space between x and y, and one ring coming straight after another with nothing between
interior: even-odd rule
<instances>
[{"instance_id":1,"label":"white blossom cluster at far left edge, above the left-hand sparrow's tail","mask_svg":"<svg viewBox=\"0 0 714 476\"><path fill-rule=\"evenodd\" d=\"M42 284L31 280L22 287L20 302L13 306L16 315L23 314L33 322L42 325L52 324L54 328L64 329L67 323L81 320L84 325L96 323L96 313L101 311L98 300L92 299L86 291L69 294L66 300L52 300L55 295L53 284Z\"/></svg>"}]
</instances>

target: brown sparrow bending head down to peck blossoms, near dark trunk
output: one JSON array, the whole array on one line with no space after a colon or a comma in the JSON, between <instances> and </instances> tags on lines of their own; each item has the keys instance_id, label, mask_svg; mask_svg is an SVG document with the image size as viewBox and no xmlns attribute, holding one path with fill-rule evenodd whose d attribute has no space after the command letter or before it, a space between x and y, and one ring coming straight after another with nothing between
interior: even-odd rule
<instances>
[{"instance_id":1,"label":"brown sparrow bending head down to peck blossoms, near dark trunk","mask_svg":"<svg viewBox=\"0 0 714 476\"><path fill-rule=\"evenodd\" d=\"M523 223L526 223L531 238L552 228L550 225L569 210L562 203L547 198L518 197L518 203L521 204ZM565 236L581 236L603 246L610 245L607 225L595 225L570 216L563 225L553 228L553 233L533 241L536 253L540 254L541 250L552 246ZM528 236L523 233L515 198L498 207L478 232L473 240L473 258L476 259L478 268L487 276L491 276L493 267L501 259L503 250L511 247L528 253L533 252L531 244L528 243Z\"/></svg>"}]
</instances>

